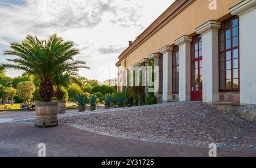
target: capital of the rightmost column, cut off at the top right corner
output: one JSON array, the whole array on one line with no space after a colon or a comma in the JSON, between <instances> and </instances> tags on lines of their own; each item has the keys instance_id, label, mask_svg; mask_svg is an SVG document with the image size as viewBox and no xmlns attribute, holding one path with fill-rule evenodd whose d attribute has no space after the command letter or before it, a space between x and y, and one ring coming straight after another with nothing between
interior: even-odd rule
<instances>
[{"instance_id":1,"label":"capital of the rightmost column, cut off at the top right corner","mask_svg":"<svg viewBox=\"0 0 256 168\"><path fill-rule=\"evenodd\" d=\"M232 15L241 16L256 7L256 0L245 0L229 9Z\"/></svg>"}]
</instances>

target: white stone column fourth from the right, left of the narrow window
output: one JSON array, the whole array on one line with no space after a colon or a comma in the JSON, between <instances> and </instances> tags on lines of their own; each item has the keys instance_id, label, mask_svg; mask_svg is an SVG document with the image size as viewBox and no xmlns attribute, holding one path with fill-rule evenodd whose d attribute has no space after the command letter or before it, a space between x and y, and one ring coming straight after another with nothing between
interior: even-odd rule
<instances>
[{"instance_id":1,"label":"white stone column fourth from the right, left of the narrow window","mask_svg":"<svg viewBox=\"0 0 256 168\"><path fill-rule=\"evenodd\" d=\"M159 50L163 54L163 103L172 99L172 48L164 46Z\"/></svg>"}]
</instances>

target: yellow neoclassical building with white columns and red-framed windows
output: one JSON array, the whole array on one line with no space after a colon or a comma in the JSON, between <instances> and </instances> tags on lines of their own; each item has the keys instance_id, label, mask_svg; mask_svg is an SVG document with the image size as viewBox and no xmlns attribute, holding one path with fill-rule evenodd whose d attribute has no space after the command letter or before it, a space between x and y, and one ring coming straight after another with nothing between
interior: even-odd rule
<instances>
[{"instance_id":1,"label":"yellow neoclassical building with white columns and red-framed windows","mask_svg":"<svg viewBox=\"0 0 256 168\"><path fill-rule=\"evenodd\" d=\"M116 66L147 66L154 59L155 95L163 102L255 105L255 6L256 0L176 0L130 42ZM122 77L119 71L118 83Z\"/></svg>"}]
</instances>

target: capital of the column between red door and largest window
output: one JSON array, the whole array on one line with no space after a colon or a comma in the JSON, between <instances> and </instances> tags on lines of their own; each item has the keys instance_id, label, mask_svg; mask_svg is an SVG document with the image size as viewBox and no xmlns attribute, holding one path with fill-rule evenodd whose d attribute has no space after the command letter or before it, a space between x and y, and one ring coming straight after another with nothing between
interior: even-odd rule
<instances>
[{"instance_id":1,"label":"capital of the column between red door and largest window","mask_svg":"<svg viewBox=\"0 0 256 168\"><path fill-rule=\"evenodd\" d=\"M200 25L200 27L196 28L196 33L200 35L204 35L210 31L218 31L221 28L221 22L209 20L207 23Z\"/></svg>"}]
</instances>

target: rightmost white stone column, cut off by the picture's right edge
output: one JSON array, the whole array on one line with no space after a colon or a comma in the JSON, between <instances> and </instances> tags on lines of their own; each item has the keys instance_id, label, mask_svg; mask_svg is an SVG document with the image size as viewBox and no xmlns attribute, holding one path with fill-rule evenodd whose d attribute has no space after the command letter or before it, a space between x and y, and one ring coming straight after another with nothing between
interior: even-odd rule
<instances>
[{"instance_id":1,"label":"rightmost white stone column, cut off by the picture's right edge","mask_svg":"<svg viewBox=\"0 0 256 168\"><path fill-rule=\"evenodd\" d=\"M240 103L256 104L256 0L245 0L230 8L239 16ZM255 114L255 113L254 113Z\"/></svg>"}]
</instances>

